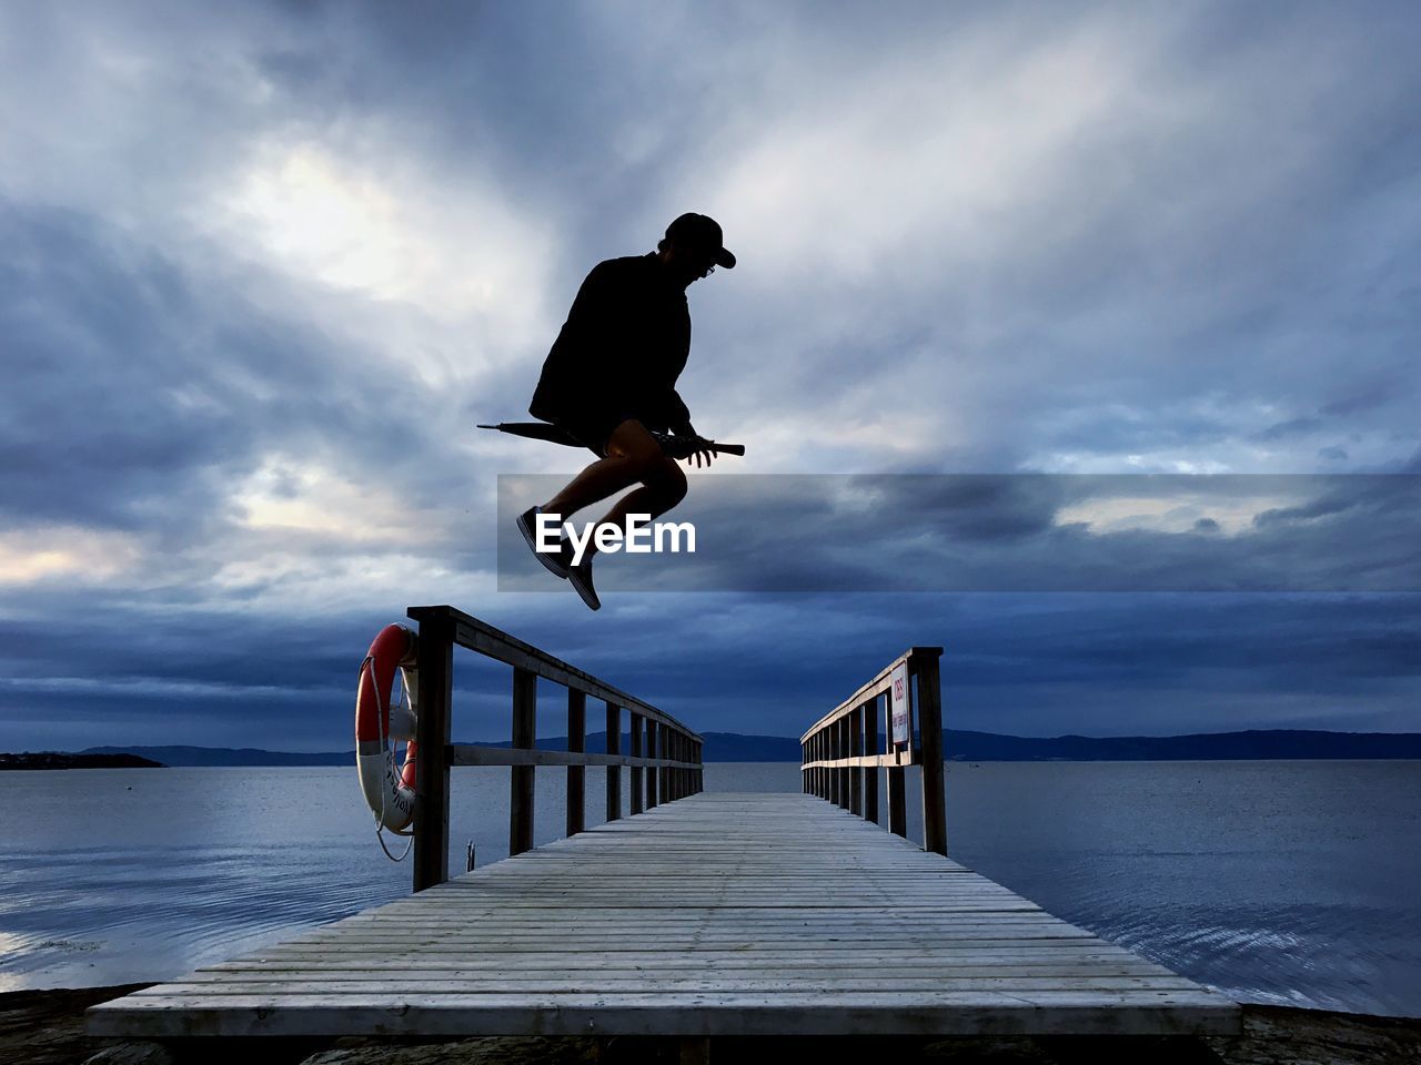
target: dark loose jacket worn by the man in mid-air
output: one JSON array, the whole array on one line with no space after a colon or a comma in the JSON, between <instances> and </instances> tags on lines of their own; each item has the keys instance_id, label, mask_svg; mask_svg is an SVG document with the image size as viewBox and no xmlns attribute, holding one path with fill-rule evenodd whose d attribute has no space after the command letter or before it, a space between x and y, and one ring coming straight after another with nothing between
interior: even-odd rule
<instances>
[{"instance_id":1,"label":"dark loose jacket worn by the man in mid-air","mask_svg":"<svg viewBox=\"0 0 1421 1065\"><path fill-rule=\"evenodd\" d=\"M546 422L588 415L675 429L691 413L676 378L691 355L686 293L655 253L598 263L543 362L529 413Z\"/></svg>"}]
</instances>

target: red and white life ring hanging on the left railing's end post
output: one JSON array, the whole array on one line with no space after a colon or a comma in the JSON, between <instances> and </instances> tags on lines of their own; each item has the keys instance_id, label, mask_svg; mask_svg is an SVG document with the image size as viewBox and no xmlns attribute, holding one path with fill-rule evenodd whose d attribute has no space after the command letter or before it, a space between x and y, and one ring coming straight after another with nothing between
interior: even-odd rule
<instances>
[{"instance_id":1,"label":"red and white life ring hanging on the left railing's end post","mask_svg":"<svg viewBox=\"0 0 1421 1065\"><path fill-rule=\"evenodd\" d=\"M381 826L408 835L415 819L415 696L419 692L418 638L404 625L387 625L369 645L355 692L355 768L365 802ZM408 709L391 713L391 686L399 670ZM395 765L395 741L408 743Z\"/></svg>"}]
</instances>

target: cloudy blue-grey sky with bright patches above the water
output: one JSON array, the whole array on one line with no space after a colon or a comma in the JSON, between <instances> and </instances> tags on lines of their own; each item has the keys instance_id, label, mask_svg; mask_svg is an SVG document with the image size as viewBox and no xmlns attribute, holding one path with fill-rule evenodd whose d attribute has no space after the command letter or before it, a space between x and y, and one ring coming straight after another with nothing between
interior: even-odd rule
<instances>
[{"instance_id":1,"label":"cloudy blue-grey sky with bright patches above the water","mask_svg":"<svg viewBox=\"0 0 1421 1065\"><path fill-rule=\"evenodd\" d=\"M951 727L1421 730L1418 53L1408 3L7 4L0 750L347 748L429 602L703 731L914 643ZM747 454L594 615L496 550L500 474L590 454L473 426L684 210Z\"/></svg>"}]
</instances>

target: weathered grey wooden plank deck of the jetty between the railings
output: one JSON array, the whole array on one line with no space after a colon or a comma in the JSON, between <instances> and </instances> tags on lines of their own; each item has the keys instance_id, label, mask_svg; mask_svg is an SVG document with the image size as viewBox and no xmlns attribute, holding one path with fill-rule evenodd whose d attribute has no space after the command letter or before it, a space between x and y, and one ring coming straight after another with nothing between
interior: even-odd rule
<instances>
[{"instance_id":1,"label":"weathered grey wooden plank deck of the jetty between the railings","mask_svg":"<svg viewBox=\"0 0 1421 1065\"><path fill-rule=\"evenodd\" d=\"M98 1005L88 1030L1236 1034L1239 1010L823 799L701 794Z\"/></svg>"}]
</instances>

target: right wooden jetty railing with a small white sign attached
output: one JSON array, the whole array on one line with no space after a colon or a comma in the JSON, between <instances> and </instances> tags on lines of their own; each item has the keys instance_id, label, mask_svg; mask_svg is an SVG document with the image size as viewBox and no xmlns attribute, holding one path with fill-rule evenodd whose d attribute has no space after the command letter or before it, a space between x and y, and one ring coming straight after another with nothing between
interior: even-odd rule
<instances>
[{"instance_id":1,"label":"right wooden jetty railing with a small white sign attached","mask_svg":"<svg viewBox=\"0 0 1421 1065\"><path fill-rule=\"evenodd\" d=\"M922 849L948 853L942 772L942 648L909 648L800 737L809 795L878 822L878 777L888 777L888 831L908 836L905 767L922 767ZM885 726L882 737L878 724ZM885 750L880 751L880 738Z\"/></svg>"}]
</instances>

